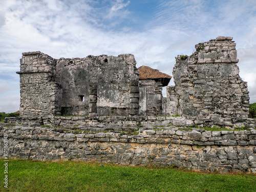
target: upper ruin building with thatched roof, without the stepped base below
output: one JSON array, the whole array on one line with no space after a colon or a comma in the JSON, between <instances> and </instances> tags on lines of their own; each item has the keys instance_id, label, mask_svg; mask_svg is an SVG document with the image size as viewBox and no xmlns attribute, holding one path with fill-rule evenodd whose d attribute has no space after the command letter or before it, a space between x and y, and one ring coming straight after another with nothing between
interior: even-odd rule
<instances>
[{"instance_id":1,"label":"upper ruin building with thatched roof, without the stepped base below","mask_svg":"<svg viewBox=\"0 0 256 192\"><path fill-rule=\"evenodd\" d=\"M239 76L236 44L219 36L178 55L170 78L136 68L132 54L54 59L36 52L20 59L20 116L212 116L249 114L247 83Z\"/></svg>"}]
</instances>

